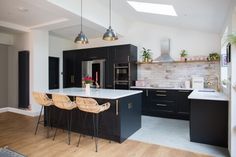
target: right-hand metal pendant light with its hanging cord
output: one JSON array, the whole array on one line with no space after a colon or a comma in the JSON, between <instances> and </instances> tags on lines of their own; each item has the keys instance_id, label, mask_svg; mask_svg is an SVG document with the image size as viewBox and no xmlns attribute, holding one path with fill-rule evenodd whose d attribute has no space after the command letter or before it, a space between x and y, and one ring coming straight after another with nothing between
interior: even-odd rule
<instances>
[{"instance_id":1,"label":"right-hand metal pendant light with its hanging cord","mask_svg":"<svg viewBox=\"0 0 236 157\"><path fill-rule=\"evenodd\" d=\"M113 40L118 40L118 36L116 32L111 28L111 0L109 0L109 28L106 30L106 32L103 35L103 40L107 41L113 41Z\"/></svg>"}]
</instances>

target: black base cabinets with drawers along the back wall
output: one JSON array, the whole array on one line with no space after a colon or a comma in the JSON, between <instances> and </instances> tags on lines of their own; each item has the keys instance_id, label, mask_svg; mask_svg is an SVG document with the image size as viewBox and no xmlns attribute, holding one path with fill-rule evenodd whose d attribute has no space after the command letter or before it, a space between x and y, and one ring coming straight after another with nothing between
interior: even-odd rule
<instances>
[{"instance_id":1,"label":"black base cabinets with drawers along the back wall","mask_svg":"<svg viewBox=\"0 0 236 157\"><path fill-rule=\"evenodd\" d=\"M144 89L142 114L189 120L190 100L188 96L191 92L192 90Z\"/></svg>"}]
</instances>

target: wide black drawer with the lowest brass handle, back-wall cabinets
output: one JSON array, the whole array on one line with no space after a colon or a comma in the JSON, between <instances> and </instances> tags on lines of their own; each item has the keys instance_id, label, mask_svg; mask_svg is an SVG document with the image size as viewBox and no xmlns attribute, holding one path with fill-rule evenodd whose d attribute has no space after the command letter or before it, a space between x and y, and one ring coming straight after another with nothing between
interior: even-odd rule
<instances>
[{"instance_id":1,"label":"wide black drawer with the lowest brass handle, back-wall cabinets","mask_svg":"<svg viewBox=\"0 0 236 157\"><path fill-rule=\"evenodd\" d=\"M150 104L150 109L152 111L159 111L159 112L175 112L175 102L174 101L168 101L168 100L163 100L163 101L151 101Z\"/></svg>"}]
</instances>

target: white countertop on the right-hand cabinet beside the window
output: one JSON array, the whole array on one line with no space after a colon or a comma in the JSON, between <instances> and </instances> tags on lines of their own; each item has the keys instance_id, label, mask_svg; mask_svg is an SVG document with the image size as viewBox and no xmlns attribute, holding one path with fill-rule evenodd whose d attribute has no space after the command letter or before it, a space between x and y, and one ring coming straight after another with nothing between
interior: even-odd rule
<instances>
[{"instance_id":1,"label":"white countertop on the right-hand cabinet beside the window","mask_svg":"<svg viewBox=\"0 0 236 157\"><path fill-rule=\"evenodd\" d=\"M189 96L189 99L228 101L228 97L212 89L195 89Z\"/></svg>"}]
</instances>

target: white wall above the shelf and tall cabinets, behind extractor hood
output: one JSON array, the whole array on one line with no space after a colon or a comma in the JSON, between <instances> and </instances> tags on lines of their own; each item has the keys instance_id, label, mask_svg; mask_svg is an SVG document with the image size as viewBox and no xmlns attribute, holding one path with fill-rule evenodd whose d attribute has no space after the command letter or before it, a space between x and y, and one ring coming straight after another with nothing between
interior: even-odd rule
<instances>
[{"instance_id":1,"label":"white wall above the shelf and tall cabinets, behind extractor hood","mask_svg":"<svg viewBox=\"0 0 236 157\"><path fill-rule=\"evenodd\" d=\"M99 39L89 39L88 45L78 45L78 48L99 47L104 45L117 45L131 43L138 46L150 48L153 58L160 55L160 40L170 38L171 56L178 60L180 50L186 49L190 56L208 55L211 52L220 53L220 35L200 32L195 30L181 29L175 27L153 25L148 23L133 23L128 33L118 41L107 42Z\"/></svg>"}]
</instances>

